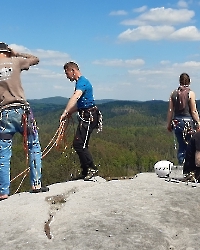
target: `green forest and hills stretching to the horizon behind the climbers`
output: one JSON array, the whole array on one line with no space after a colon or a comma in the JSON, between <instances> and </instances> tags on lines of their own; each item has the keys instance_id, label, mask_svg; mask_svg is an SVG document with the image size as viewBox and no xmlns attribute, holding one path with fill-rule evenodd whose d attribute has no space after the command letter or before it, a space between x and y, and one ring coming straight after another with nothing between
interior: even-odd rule
<instances>
[{"instance_id":1,"label":"green forest and hills stretching to the horizon behind the climbers","mask_svg":"<svg viewBox=\"0 0 200 250\"><path fill-rule=\"evenodd\" d=\"M42 149L54 136L67 98L55 97L29 100L34 112ZM134 176L139 172L153 171L160 160L177 164L174 136L166 129L168 103L164 101L98 101L103 114L103 131L93 132L90 151L102 177ZM198 102L197 102L198 105ZM68 126L65 138L67 148L53 148L43 158L43 184L50 185L70 179L79 170L79 160L72 148L74 123ZM21 135L13 140L11 179L27 168ZM22 176L11 184L12 192L18 187ZM26 177L19 191L29 190Z\"/></svg>"}]
</instances>

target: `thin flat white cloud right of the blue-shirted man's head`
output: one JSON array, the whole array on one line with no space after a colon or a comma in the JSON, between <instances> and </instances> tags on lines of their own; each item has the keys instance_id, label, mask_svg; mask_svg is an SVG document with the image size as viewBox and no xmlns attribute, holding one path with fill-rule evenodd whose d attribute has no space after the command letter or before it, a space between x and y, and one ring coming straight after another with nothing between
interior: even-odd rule
<instances>
[{"instance_id":1,"label":"thin flat white cloud right of the blue-shirted man's head","mask_svg":"<svg viewBox=\"0 0 200 250\"><path fill-rule=\"evenodd\" d=\"M111 67L133 67L144 65L145 62L143 59L132 59L132 60L122 60L122 59L103 59L96 60L93 64L111 66Z\"/></svg>"}]
</instances>

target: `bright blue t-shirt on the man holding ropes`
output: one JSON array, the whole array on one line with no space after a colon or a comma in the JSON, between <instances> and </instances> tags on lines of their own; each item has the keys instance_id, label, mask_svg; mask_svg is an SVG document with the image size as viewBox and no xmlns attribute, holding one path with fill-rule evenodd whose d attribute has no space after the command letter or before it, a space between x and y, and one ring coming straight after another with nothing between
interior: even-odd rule
<instances>
[{"instance_id":1,"label":"bright blue t-shirt on the man holding ropes","mask_svg":"<svg viewBox=\"0 0 200 250\"><path fill-rule=\"evenodd\" d=\"M86 109L95 106L92 84L84 76L76 82L75 90L81 90L82 96L78 99L77 108Z\"/></svg>"}]
</instances>

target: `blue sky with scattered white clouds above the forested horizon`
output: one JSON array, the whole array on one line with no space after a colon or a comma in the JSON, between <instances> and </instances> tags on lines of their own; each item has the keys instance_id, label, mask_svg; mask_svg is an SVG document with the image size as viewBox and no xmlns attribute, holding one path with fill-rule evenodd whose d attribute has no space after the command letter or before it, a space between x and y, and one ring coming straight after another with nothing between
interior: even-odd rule
<instances>
[{"instance_id":1,"label":"blue sky with scattered white clouds above the forested horizon","mask_svg":"<svg viewBox=\"0 0 200 250\"><path fill-rule=\"evenodd\" d=\"M1 41L40 58L22 73L28 99L70 97L69 60L95 99L167 101L183 72L200 99L200 0L10 0L1 10Z\"/></svg>"}]
</instances>

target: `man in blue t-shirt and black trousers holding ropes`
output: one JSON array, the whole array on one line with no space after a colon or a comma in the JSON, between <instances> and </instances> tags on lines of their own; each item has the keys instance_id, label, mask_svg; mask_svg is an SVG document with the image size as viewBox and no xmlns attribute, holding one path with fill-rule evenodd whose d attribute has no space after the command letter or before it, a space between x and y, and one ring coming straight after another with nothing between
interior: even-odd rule
<instances>
[{"instance_id":1,"label":"man in blue t-shirt and black trousers holding ropes","mask_svg":"<svg viewBox=\"0 0 200 250\"><path fill-rule=\"evenodd\" d=\"M92 155L88 150L90 135L93 129L102 129L102 115L95 106L93 87L91 83L81 75L79 66L74 62L67 62L64 65L67 78L76 82L75 91L61 115L60 121L70 117L78 111L79 124L73 140L73 147L76 150L80 164L80 178L90 180L98 172L94 165Z\"/></svg>"}]
</instances>

